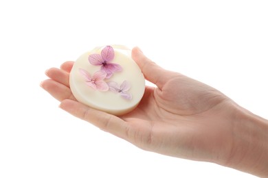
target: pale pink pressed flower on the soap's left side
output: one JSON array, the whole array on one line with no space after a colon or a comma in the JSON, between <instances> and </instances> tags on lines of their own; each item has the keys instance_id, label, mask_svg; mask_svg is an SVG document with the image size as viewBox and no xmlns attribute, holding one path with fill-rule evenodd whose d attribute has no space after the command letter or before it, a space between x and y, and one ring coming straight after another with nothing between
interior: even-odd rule
<instances>
[{"instance_id":1,"label":"pale pink pressed flower on the soap's left side","mask_svg":"<svg viewBox=\"0 0 268 178\"><path fill-rule=\"evenodd\" d=\"M107 73L105 73L104 71L98 71L94 73L92 77L87 71L82 68L80 68L79 71L86 79L86 83L88 86L91 86L95 90L97 89L102 92L109 90L108 84L104 81L105 77L107 76Z\"/></svg>"}]
</instances>

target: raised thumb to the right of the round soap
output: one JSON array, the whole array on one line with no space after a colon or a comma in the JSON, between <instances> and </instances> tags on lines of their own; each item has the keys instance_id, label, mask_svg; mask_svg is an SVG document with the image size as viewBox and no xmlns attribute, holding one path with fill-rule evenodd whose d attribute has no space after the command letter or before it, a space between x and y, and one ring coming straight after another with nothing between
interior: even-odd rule
<instances>
[{"instance_id":1,"label":"raised thumb to the right of the round soap","mask_svg":"<svg viewBox=\"0 0 268 178\"><path fill-rule=\"evenodd\" d=\"M166 70L146 58L138 47L132 49L132 58L139 68L141 68L144 77L148 79L148 81L153 82L153 84L156 84L160 89L164 86L168 80Z\"/></svg>"}]
</instances>

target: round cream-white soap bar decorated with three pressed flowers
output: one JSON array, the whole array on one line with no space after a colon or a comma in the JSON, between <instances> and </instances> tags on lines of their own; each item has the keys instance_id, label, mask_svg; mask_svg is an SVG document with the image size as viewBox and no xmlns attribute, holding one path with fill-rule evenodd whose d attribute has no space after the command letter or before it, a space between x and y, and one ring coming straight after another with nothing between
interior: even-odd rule
<instances>
[{"instance_id":1,"label":"round cream-white soap bar decorated with three pressed flowers","mask_svg":"<svg viewBox=\"0 0 268 178\"><path fill-rule=\"evenodd\" d=\"M81 55L69 84L79 102L115 115L135 109L145 89L142 71L123 46L96 47Z\"/></svg>"}]
</instances>

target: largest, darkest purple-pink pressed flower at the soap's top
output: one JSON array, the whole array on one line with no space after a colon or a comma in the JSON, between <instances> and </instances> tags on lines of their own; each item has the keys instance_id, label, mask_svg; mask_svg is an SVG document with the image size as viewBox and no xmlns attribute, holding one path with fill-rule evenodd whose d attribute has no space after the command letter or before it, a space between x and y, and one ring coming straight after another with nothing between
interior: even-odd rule
<instances>
[{"instance_id":1,"label":"largest, darkest purple-pink pressed flower at the soap's top","mask_svg":"<svg viewBox=\"0 0 268 178\"><path fill-rule=\"evenodd\" d=\"M119 64L111 63L111 60L115 57L113 47L107 46L102 49L100 54L89 55L89 62L94 66L101 66L100 70L107 73L106 78L109 79L113 73L122 71L122 67Z\"/></svg>"}]
</instances>

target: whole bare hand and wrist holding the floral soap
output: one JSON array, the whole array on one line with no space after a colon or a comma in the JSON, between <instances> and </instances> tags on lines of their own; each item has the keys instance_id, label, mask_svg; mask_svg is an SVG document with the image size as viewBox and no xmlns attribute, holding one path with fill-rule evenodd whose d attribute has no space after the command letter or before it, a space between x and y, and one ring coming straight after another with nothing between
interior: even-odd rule
<instances>
[{"instance_id":1,"label":"whole bare hand and wrist holding the floral soap","mask_svg":"<svg viewBox=\"0 0 268 178\"><path fill-rule=\"evenodd\" d=\"M268 177L268 122L218 90L180 73L166 71L142 53L132 58L148 81L132 112L113 116L79 103L69 88L74 62L46 71L41 87L60 108L146 151L214 162Z\"/></svg>"}]
</instances>

